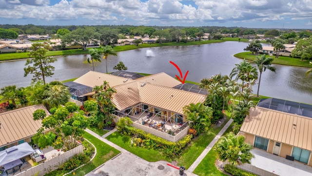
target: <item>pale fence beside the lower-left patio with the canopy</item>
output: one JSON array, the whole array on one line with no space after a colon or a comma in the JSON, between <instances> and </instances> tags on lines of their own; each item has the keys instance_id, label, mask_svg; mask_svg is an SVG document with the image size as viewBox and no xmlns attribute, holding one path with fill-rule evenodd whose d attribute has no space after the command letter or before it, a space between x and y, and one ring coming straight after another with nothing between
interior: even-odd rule
<instances>
[{"instance_id":1,"label":"pale fence beside the lower-left patio with the canopy","mask_svg":"<svg viewBox=\"0 0 312 176\"><path fill-rule=\"evenodd\" d=\"M59 165L72 158L74 155L83 153L82 145L78 145L72 150L69 150L62 155L55 156L54 158L45 161L37 166L34 166L26 171L21 172L15 176L34 176L38 173L37 176L44 176L45 174L54 171L59 168Z\"/></svg>"}]
</instances>

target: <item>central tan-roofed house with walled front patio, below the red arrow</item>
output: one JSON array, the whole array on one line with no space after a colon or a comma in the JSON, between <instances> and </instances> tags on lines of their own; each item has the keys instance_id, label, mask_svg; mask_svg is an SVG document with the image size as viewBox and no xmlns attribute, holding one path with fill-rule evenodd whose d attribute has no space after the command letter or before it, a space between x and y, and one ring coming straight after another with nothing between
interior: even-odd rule
<instances>
[{"instance_id":1,"label":"central tan-roofed house with walled front patio, below the red arrow","mask_svg":"<svg viewBox=\"0 0 312 176\"><path fill-rule=\"evenodd\" d=\"M117 118L130 117L136 128L169 141L176 142L188 133L189 125L182 108L205 101L205 95L179 90L177 86L181 82L165 73L130 79L90 71L74 82L94 87L104 80L117 91L113 95ZM94 94L80 97L94 100Z\"/></svg>"}]
</instances>

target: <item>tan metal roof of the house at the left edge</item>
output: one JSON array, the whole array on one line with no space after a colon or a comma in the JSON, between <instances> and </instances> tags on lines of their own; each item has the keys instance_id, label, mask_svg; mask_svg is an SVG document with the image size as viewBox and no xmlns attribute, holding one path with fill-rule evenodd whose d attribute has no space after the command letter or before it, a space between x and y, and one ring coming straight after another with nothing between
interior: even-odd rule
<instances>
[{"instance_id":1,"label":"tan metal roof of the house at the left edge","mask_svg":"<svg viewBox=\"0 0 312 176\"><path fill-rule=\"evenodd\" d=\"M32 137L37 133L37 130L42 127L41 120L33 119L33 113L37 109L43 109L47 115L50 115L42 104L0 114L0 147L27 137Z\"/></svg>"}]
</instances>

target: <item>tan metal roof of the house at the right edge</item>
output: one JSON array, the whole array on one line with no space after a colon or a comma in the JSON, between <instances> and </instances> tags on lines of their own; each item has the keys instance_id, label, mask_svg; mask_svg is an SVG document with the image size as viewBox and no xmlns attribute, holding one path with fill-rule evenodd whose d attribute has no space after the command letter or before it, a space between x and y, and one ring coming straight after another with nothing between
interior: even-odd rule
<instances>
[{"instance_id":1,"label":"tan metal roof of the house at the right edge","mask_svg":"<svg viewBox=\"0 0 312 176\"><path fill-rule=\"evenodd\" d=\"M312 118L256 107L250 109L241 132L312 151Z\"/></svg>"}]
</instances>

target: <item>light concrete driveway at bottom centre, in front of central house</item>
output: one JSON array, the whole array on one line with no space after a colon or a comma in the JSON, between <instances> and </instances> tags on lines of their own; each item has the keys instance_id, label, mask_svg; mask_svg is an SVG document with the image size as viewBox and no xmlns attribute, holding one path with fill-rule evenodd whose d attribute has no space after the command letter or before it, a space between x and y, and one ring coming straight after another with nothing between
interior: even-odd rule
<instances>
[{"instance_id":1,"label":"light concrete driveway at bottom centre, in front of central house","mask_svg":"<svg viewBox=\"0 0 312 176\"><path fill-rule=\"evenodd\" d=\"M151 156L152 157L152 156ZM180 176L167 161L148 162L131 153L120 153L86 176ZM197 176L188 171L183 176Z\"/></svg>"}]
</instances>

